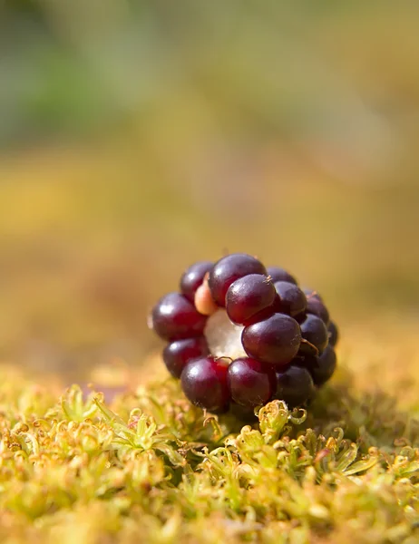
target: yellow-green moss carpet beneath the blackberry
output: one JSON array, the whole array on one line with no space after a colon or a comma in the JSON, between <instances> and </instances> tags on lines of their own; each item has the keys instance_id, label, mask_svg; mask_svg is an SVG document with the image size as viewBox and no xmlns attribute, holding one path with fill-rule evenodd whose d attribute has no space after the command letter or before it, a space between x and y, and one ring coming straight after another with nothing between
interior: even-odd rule
<instances>
[{"instance_id":1,"label":"yellow-green moss carpet beneath the blackberry","mask_svg":"<svg viewBox=\"0 0 419 544\"><path fill-rule=\"evenodd\" d=\"M419 539L419 423L340 374L308 412L204 414L172 380L105 403L0 376L0 539L64 544Z\"/></svg>"}]
</instances>

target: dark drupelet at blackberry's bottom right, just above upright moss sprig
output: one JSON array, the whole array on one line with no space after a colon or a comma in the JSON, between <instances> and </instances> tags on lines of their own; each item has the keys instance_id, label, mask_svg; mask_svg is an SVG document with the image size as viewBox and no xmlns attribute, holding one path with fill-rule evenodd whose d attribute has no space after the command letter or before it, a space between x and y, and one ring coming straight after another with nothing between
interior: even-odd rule
<instances>
[{"instance_id":1,"label":"dark drupelet at blackberry's bottom right, just above upright moss sprig","mask_svg":"<svg viewBox=\"0 0 419 544\"><path fill-rule=\"evenodd\" d=\"M277 372L275 398L287 403L289 408L301 406L315 394L313 379L306 368L291 364L284 372Z\"/></svg>"}]
</instances>

